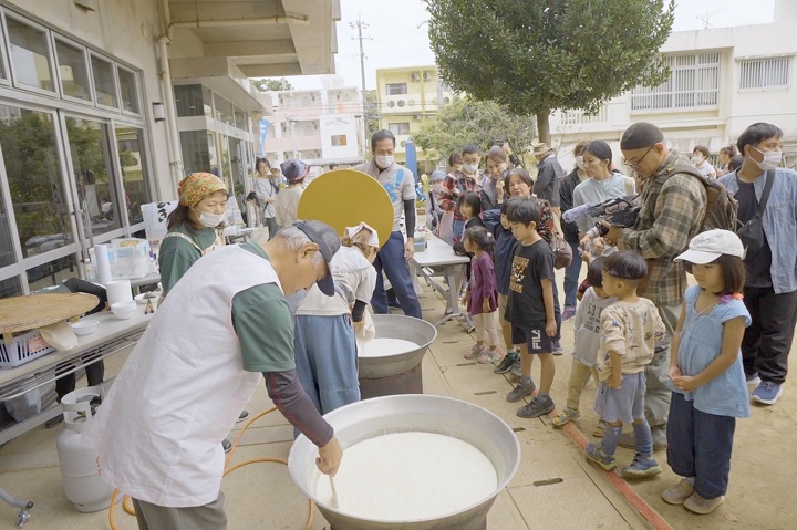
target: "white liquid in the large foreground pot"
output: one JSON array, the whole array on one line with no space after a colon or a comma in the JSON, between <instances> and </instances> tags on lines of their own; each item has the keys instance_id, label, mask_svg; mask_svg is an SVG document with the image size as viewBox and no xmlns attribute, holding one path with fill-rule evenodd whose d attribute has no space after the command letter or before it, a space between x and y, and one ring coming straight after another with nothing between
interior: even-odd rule
<instances>
[{"instance_id":1,"label":"white liquid in the large foreground pot","mask_svg":"<svg viewBox=\"0 0 797 530\"><path fill-rule=\"evenodd\" d=\"M480 502L496 491L498 476L480 450L458 438L395 433L345 449L334 482L339 511L398 522L438 518ZM315 497L334 506L325 475L319 477Z\"/></svg>"}]
</instances>

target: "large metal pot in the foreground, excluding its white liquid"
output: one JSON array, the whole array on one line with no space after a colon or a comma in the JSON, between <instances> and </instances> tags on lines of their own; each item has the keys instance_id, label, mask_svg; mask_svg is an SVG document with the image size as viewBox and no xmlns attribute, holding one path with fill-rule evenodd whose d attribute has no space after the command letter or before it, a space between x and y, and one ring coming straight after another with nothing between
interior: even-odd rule
<instances>
[{"instance_id":1,"label":"large metal pot in the foreground, excluding its white liquid","mask_svg":"<svg viewBox=\"0 0 797 530\"><path fill-rule=\"evenodd\" d=\"M291 478L307 497L315 501L334 530L485 529L487 512L495 498L509 484L520 464L520 444L504 420L489 411L451 397L417 394L375 397L338 408L324 418L334 427L335 436L344 448L390 433L425 432L453 436L482 450L498 476L498 487L491 495L455 513L402 522L360 519L317 500L318 448L306 436L299 436L288 456Z\"/></svg>"}]
</instances>

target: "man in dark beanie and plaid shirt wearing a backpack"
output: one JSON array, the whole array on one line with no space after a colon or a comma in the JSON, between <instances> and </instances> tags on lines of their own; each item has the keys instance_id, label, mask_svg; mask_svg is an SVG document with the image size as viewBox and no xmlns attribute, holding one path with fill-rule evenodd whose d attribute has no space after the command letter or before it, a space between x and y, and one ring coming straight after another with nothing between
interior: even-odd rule
<instances>
[{"instance_id":1,"label":"man in dark beanie and plaid shirt wearing a backpack","mask_svg":"<svg viewBox=\"0 0 797 530\"><path fill-rule=\"evenodd\" d=\"M689 248L690 239L701 230L707 199L701 180L690 174L672 173L690 159L664 145L664 135L655 125L631 125L620 139L625 164L642 181L640 215L633 228L610 227L609 245L633 250L648 261L648 288L641 292L659 308L666 334L656 343L653 361L645 366L645 417L651 426L653 448L666 448L666 420L670 389L666 386L670 344L681 315L686 271L683 261L673 259ZM633 433L620 438L623 447L634 447Z\"/></svg>"}]
</instances>

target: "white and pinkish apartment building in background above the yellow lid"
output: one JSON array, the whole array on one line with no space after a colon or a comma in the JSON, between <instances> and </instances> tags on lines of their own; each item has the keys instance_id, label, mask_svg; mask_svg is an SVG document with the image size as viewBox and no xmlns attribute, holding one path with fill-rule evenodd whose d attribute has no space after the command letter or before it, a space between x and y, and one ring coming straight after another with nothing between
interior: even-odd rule
<instances>
[{"instance_id":1,"label":"white and pinkish apartment building in background above the yellow lid","mask_svg":"<svg viewBox=\"0 0 797 530\"><path fill-rule=\"evenodd\" d=\"M260 121L261 153L272 163L299 158L310 175L330 164L363 160L363 106L360 90L329 87L266 92L272 113Z\"/></svg>"}]
</instances>

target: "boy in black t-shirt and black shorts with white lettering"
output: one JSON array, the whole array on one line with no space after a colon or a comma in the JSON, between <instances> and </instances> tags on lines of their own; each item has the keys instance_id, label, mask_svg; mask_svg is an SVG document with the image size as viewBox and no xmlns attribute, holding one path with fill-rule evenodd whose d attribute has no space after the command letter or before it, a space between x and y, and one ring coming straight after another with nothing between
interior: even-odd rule
<instances>
[{"instance_id":1,"label":"boy in black t-shirt and black shorts with white lettering","mask_svg":"<svg viewBox=\"0 0 797 530\"><path fill-rule=\"evenodd\" d=\"M537 355L541 364L539 394L517 412L522 418L536 418L553 411L549 396L556 372L551 341L557 334L559 314L553 251L537 232L540 208L536 199L510 206L507 218L520 245L513 258L506 320L513 324L513 343L521 344L522 370L520 383L507 395L507 401L518 402L536 389L529 355Z\"/></svg>"}]
</instances>

